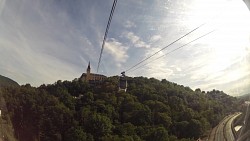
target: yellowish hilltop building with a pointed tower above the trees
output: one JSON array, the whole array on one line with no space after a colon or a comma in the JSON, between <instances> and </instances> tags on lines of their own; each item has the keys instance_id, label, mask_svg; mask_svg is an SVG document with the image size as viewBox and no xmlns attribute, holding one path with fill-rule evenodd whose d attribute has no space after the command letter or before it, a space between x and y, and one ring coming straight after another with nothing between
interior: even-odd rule
<instances>
[{"instance_id":1,"label":"yellowish hilltop building with a pointed tower above the trees","mask_svg":"<svg viewBox=\"0 0 250 141\"><path fill-rule=\"evenodd\" d=\"M102 82L107 78L105 75L91 73L90 71L91 71L91 68L90 68L90 62L89 62L86 73L83 73L80 79L88 83L96 83L96 82Z\"/></svg>"}]
</instances>

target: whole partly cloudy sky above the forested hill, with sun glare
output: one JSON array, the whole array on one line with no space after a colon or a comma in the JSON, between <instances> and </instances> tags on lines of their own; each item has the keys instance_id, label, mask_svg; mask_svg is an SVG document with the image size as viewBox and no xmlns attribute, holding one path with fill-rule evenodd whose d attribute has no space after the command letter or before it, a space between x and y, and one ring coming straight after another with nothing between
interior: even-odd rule
<instances>
[{"instance_id":1,"label":"whole partly cloudy sky above the forested hill, with sun glare","mask_svg":"<svg viewBox=\"0 0 250 141\"><path fill-rule=\"evenodd\" d=\"M112 4L113 0L0 0L0 74L19 84L40 86L79 78L89 61L96 73ZM201 26L126 75L246 94L249 25L250 11L241 0L118 0L98 73L119 75Z\"/></svg>"}]
</instances>

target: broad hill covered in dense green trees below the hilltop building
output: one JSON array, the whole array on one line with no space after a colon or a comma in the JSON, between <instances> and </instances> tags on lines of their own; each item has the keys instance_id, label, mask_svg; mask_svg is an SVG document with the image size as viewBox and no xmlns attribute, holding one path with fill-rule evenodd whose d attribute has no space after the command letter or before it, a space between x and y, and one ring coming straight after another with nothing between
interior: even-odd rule
<instances>
[{"instance_id":1,"label":"broad hill covered in dense green trees below the hilltop building","mask_svg":"<svg viewBox=\"0 0 250 141\"><path fill-rule=\"evenodd\" d=\"M80 80L3 88L20 141L189 141L204 135L237 99L222 91L193 91L167 80L118 77L90 86Z\"/></svg>"}]
</instances>

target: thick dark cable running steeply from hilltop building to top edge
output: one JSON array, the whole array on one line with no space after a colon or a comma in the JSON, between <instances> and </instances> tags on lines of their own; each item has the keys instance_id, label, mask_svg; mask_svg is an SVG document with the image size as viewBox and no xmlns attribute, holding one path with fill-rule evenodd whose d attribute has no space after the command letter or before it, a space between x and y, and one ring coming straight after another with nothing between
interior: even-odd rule
<instances>
[{"instance_id":1,"label":"thick dark cable running steeply from hilltop building to top edge","mask_svg":"<svg viewBox=\"0 0 250 141\"><path fill-rule=\"evenodd\" d=\"M106 38L107 38L107 35L108 35L110 23L111 23L111 20L112 20L114 11L115 11L116 3L117 3L117 0L114 0L112 9L111 9L111 11L110 11L108 24L107 24L106 31L105 31L105 34L104 34L104 37L103 37L103 41L102 41L102 48L101 48L101 52L100 52L100 56L99 56L99 61L98 61L98 66L97 66L97 73L98 73L98 71L99 71L100 62L101 62L101 60L102 60L102 53L103 53L103 49L104 49L104 46L105 46Z\"/></svg>"}]
</instances>

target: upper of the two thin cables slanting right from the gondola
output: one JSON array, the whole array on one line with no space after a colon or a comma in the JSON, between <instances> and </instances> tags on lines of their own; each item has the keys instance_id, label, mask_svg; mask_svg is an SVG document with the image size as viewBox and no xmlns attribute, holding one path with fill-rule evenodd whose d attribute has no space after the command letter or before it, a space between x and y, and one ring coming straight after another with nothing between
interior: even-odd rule
<instances>
[{"instance_id":1,"label":"upper of the two thin cables slanting right from the gondola","mask_svg":"<svg viewBox=\"0 0 250 141\"><path fill-rule=\"evenodd\" d=\"M159 52L161 52L162 50L168 48L169 46L173 45L174 43L178 42L179 40L181 40L182 38L186 37L187 35L191 34L192 32L194 32L195 30L199 29L200 27L204 26L206 23L201 24L200 26L196 27L195 29L189 31L188 33L186 33L185 35L181 36L180 38L176 39L175 41L173 41L172 43L168 44L167 46L163 47L162 49L160 49L159 51L155 52L154 54L150 55L149 57L143 59L142 61L140 61L139 63L135 64L134 66L130 67L129 69L127 69L125 72L130 71L131 69L135 68L136 66L140 65L141 63L145 62L146 60L148 60L149 58L153 57L154 55L158 54Z\"/></svg>"}]
</instances>

